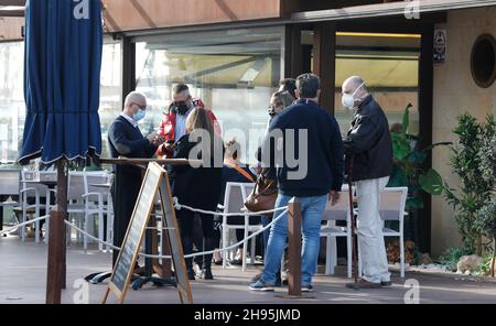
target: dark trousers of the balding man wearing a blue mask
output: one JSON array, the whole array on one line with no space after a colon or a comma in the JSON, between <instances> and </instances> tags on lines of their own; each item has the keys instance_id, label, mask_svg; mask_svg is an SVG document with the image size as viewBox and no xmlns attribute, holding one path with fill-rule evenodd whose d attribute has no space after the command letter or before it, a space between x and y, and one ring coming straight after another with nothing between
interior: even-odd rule
<instances>
[{"instance_id":1,"label":"dark trousers of the balding man wearing a blue mask","mask_svg":"<svg viewBox=\"0 0 496 326\"><path fill-rule=\"evenodd\" d=\"M141 188L141 175L116 171L111 187L114 202L114 246L121 247ZM114 250L112 267L119 251Z\"/></svg>"}]
</instances>

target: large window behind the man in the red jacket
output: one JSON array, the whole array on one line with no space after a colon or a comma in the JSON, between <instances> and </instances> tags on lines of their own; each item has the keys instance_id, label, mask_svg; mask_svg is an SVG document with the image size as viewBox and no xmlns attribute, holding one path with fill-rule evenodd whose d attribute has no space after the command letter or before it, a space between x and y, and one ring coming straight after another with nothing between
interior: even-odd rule
<instances>
[{"instance_id":1,"label":"large window behind the man in the red jacket","mask_svg":"<svg viewBox=\"0 0 496 326\"><path fill-rule=\"evenodd\" d=\"M282 28L183 33L137 40L137 90L151 108L143 132L157 131L172 87L190 86L217 116L225 141L236 139L245 162L268 122L270 96L281 79Z\"/></svg>"}]
</instances>

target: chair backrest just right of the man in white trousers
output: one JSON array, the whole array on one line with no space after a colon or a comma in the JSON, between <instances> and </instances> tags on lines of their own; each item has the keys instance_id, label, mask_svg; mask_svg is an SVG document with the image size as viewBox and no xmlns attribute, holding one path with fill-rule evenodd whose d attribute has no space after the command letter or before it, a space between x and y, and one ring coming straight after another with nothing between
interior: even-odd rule
<instances>
[{"instance_id":1,"label":"chair backrest just right of the man in white trousers","mask_svg":"<svg viewBox=\"0 0 496 326\"><path fill-rule=\"evenodd\" d=\"M408 187L386 188L380 194L379 214L382 220L402 220Z\"/></svg>"}]
</instances>

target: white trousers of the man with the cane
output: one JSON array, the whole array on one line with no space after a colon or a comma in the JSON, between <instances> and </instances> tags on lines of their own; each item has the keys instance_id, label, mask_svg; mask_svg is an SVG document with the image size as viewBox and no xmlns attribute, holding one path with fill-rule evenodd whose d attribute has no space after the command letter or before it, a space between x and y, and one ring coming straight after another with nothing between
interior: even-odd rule
<instances>
[{"instance_id":1,"label":"white trousers of the man with the cane","mask_svg":"<svg viewBox=\"0 0 496 326\"><path fill-rule=\"evenodd\" d=\"M389 177L360 181L357 183L358 196L358 250L362 259L363 279L373 282L389 282L388 259L379 215L380 193Z\"/></svg>"}]
</instances>

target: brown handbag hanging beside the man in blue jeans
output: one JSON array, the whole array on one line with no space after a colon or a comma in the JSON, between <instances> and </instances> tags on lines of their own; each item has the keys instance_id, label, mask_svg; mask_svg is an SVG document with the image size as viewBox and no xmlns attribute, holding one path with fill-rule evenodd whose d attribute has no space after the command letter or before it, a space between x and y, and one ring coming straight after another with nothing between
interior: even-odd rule
<instances>
[{"instance_id":1,"label":"brown handbag hanging beside the man in blue jeans","mask_svg":"<svg viewBox=\"0 0 496 326\"><path fill-rule=\"evenodd\" d=\"M276 206L277 198L278 198L277 181L260 175L257 178L254 191L245 202L245 207L252 213L271 210ZM267 214L267 216L271 217L272 214Z\"/></svg>"}]
</instances>

